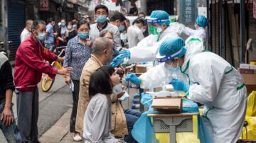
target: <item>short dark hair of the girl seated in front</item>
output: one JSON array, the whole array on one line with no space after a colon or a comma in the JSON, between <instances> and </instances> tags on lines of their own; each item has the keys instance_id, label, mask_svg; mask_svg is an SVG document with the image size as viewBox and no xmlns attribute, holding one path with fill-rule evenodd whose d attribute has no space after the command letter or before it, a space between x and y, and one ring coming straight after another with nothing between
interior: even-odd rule
<instances>
[{"instance_id":1,"label":"short dark hair of the girl seated in front","mask_svg":"<svg viewBox=\"0 0 256 143\"><path fill-rule=\"evenodd\" d=\"M90 77L89 96L95 96L97 93L111 94L112 81L110 76L114 73L114 68L110 66L103 66L96 69Z\"/></svg>"}]
</instances>

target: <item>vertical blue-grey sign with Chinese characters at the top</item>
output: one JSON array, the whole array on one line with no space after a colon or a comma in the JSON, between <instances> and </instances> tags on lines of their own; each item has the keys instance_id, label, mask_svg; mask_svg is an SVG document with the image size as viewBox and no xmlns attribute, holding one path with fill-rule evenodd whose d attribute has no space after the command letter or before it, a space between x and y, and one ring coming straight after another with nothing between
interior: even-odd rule
<instances>
[{"instance_id":1,"label":"vertical blue-grey sign with Chinese characters at the top","mask_svg":"<svg viewBox=\"0 0 256 143\"><path fill-rule=\"evenodd\" d=\"M180 0L181 23L193 24L196 21L196 0Z\"/></svg>"}]
</instances>

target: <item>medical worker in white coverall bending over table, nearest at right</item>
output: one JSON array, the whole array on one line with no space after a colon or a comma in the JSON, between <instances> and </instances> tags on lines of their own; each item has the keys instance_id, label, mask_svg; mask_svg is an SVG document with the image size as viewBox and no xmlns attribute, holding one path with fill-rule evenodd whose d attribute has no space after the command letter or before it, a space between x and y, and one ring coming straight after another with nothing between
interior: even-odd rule
<instances>
[{"instance_id":1,"label":"medical worker in white coverall bending over table, nearest at right","mask_svg":"<svg viewBox=\"0 0 256 143\"><path fill-rule=\"evenodd\" d=\"M213 52L199 52L187 55L182 46L161 45L173 55L171 67L181 68L188 75L189 83L173 79L174 90L183 91L191 101L202 103L203 124L215 143L237 142L245 120L247 91L241 74L225 59ZM166 48L168 47L168 48Z\"/></svg>"}]
</instances>

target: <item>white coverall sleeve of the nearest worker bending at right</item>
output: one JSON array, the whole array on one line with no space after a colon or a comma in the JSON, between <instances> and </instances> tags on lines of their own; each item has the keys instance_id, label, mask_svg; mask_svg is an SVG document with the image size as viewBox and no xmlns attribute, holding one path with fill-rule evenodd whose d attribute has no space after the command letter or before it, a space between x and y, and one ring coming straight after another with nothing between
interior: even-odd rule
<instances>
[{"instance_id":1,"label":"white coverall sleeve of the nearest worker bending at right","mask_svg":"<svg viewBox=\"0 0 256 143\"><path fill-rule=\"evenodd\" d=\"M214 71L213 63L207 62L207 59L205 62L193 62L191 61L189 67L189 76L193 83L189 86L187 97L198 103L212 102L218 95L222 76Z\"/></svg>"}]
</instances>

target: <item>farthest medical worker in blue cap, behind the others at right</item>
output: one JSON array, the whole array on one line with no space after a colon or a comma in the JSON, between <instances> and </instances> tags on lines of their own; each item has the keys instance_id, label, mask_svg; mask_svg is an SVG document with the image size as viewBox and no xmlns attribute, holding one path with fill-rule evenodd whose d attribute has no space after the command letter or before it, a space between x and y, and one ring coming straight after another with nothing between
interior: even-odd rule
<instances>
[{"instance_id":1,"label":"farthest medical worker in blue cap, behind the others at right","mask_svg":"<svg viewBox=\"0 0 256 143\"><path fill-rule=\"evenodd\" d=\"M185 27L182 30L182 33L194 37L201 38L202 40L206 40L206 26L208 25L208 19L205 16L198 16L196 18L195 28L196 30L193 30L191 28Z\"/></svg>"}]
</instances>

